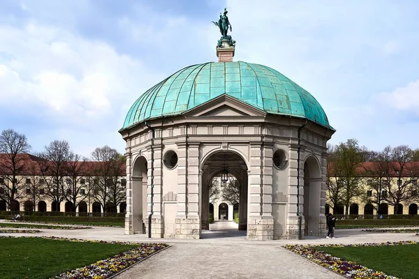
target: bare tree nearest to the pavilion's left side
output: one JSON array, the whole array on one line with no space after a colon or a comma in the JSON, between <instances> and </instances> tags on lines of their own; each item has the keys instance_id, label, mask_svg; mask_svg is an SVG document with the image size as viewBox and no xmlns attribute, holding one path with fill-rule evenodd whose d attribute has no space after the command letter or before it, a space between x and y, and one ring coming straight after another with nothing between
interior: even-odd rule
<instances>
[{"instance_id":1,"label":"bare tree nearest to the pavilion's left side","mask_svg":"<svg viewBox=\"0 0 419 279\"><path fill-rule=\"evenodd\" d=\"M91 153L91 158L96 162L92 164L94 169L91 170L94 173L94 199L101 204L103 212L106 213L108 202L117 206L124 201L122 198L124 194L121 192L125 192L125 190L118 186L118 184L120 185L118 178L122 176L123 156L116 149L105 145L96 148Z\"/></svg>"}]
</instances>

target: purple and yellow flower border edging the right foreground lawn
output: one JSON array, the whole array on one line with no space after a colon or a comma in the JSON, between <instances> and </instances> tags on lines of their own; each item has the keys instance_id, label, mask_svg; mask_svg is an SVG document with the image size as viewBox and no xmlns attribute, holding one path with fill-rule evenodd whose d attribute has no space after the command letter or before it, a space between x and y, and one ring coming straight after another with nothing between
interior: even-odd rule
<instances>
[{"instance_id":1,"label":"purple and yellow flower border edging the right foreground lawn","mask_svg":"<svg viewBox=\"0 0 419 279\"><path fill-rule=\"evenodd\" d=\"M396 246L396 245L410 245L417 244L416 241L398 241L398 242L385 242L385 243L365 243L365 244L351 244L351 245L341 245L341 244L326 244L326 245L286 245L284 248L291 250L292 252L297 253L302 257L306 257L327 269L335 271L336 273L342 274L347 278L357 278L357 279L384 279L391 278L397 279L395 276L388 276L381 271L376 271L374 269L368 269L365 266L357 264L355 262L348 262L339 257L332 257L326 252L321 250L315 250L314 247L360 247L360 246Z\"/></svg>"}]
</instances>

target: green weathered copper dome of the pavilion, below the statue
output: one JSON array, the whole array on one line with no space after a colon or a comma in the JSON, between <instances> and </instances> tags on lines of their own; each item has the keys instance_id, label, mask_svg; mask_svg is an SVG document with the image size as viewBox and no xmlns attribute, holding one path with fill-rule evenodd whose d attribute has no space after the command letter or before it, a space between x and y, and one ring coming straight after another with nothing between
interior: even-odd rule
<instances>
[{"instance_id":1,"label":"green weathered copper dome of the pavilion, below the statue","mask_svg":"<svg viewBox=\"0 0 419 279\"><path fill-rule=\"evenodd\" d=\"M182 114L223 93L270 114L306 118L331 128L309 92L272 68L239 61L203 63L177 71L135 101L122 130L147 119Z\"/></svg>"}]
</instances>

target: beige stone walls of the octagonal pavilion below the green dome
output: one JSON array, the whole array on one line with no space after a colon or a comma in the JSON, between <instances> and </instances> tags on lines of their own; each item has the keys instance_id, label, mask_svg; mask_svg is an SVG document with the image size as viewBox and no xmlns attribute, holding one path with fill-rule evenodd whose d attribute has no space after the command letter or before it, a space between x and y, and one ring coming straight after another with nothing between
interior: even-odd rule
<instances>
[{"instance_id":1,"label":"beige stone walls of the octagonal pavilion below the green dome","mask_svg":"<svg viewBox=\"0 0 419 279\"><path fill-rule=\"evenodd\" d=\"M131 167L127 234L144 223L154 238L199 239L208 229L207 183L223 165L242 186L239 229L247 229L247 239L297 239L297 213L303 216L303 234L325 234L325 152L333 130L267 114L225 94L147 125L121 132ZM177 162L170 165L174 153ZM134 173L147 181L135 184L137 192ZM136 203L142 205L135 209Z\"/></svg>"}]
</instances>

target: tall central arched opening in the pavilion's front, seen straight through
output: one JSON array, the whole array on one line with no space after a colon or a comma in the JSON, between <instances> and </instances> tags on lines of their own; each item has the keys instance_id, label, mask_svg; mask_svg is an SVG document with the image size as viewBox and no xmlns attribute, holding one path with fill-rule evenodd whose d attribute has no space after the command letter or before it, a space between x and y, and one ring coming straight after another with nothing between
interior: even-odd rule
<instances>
[{"instance_id":1,"label":"tall central arched opening in the pavilion's front, seen straight through","mask_svg":"<svg viewBox=\"0 0 419 279\"><path fill-rule=\"evenodd\" d=\"M210 216L214 219L229 220L230 230L247 230L247 164L242 156L233 151L218 151L209 156L202 165L200 218L202 230L217 230L216 221L210 225ZM219 181L220 193L218 200L210 198L212 181ZM223 190L228 195L223 197ZM210 206L212 204L212 206ZM237 205L236 205L237 204ZM236 209L238 220L235 214ZM228 212L230 211L230 212ZM211 216L211 217L212 217ZM226 219L224 219L226 218ZM214 236L214 234L212 234ZM220 237L228 236L219 234Z\"/></svg>"}]
</instances>

